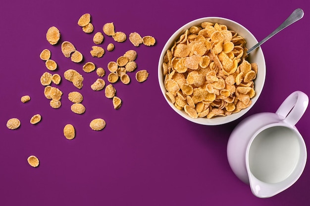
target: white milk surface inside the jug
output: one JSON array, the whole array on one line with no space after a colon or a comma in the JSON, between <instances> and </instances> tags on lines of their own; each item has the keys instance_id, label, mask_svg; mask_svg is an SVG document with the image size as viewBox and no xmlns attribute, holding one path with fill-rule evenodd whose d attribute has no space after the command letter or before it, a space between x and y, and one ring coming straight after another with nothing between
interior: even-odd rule
<instances>
[{"instance_id":1,"label":"white milk surface inside the jug","mask_svg":"<svg viewBox=\"0 0 310 206\"><path fill-rule=\"evenodd\" d=\"M277 183L286 179L300 158L298 135L285 126L264 129L249 150L249 167L262 182Z\"/></svg>"}]
</instances>

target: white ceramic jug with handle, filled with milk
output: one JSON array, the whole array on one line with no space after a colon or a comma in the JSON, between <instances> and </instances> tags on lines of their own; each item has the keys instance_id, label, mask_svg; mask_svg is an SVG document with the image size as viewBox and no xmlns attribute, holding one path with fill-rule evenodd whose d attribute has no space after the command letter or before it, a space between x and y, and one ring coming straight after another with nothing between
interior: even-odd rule
<instances>
[{"instance_id":1,"label":"white ceramic jug with handle, filled with milk","mask_svg":"<svg viewBox=\"0 0 310 206\"><path fill-rule=\"evenodd\" d=\"M252 115L232 131L227 144L230 167L259 198L272 197L301 176L307 160L303 137L295 124L304 115L308 96L295 91L276 113Z\"/></svg>"}]
</instances>

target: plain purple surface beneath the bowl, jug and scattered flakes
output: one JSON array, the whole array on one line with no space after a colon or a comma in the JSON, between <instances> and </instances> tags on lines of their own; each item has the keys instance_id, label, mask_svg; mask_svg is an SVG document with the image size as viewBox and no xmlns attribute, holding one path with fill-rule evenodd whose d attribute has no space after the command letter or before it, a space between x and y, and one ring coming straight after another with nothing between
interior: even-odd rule
<instances>
[{"instance_id":1,"label":"plain purple surface beneath the bowl, jug and scattered flakes","mask_svg":"<svg viewBox=\"0 0 310 206\"><path fill-rule=\"evenodd\" d=\"M125 0L9 0L1 2L0 12L0 205L16 206L306 206L310 204L310 165L286 191L268 199L256 198L227 162L226 146L233 128L245 117L259 112L275 112L293 91L310 95L310 1L125 1ZM266 60L266 82L261 97L250 112L235 122L205 126L178 116L166 104L157 81L157 62L165 41L185 23L196 18L230 18L248 28L258 40L280 25L295 8L305 16L262 45ZM95 30L86 34L77 25L79 17L90 13ZM115 31L129 35L154 36L153 47L134 47L130 41L114 42L104 36L102 46L115 43L115 50L103 58L89 51L92 38L104 23L114 22ZM129 49L138 52L138 70L150 73L146 82L115 83L123 100L114 110L104 90L90 85L95 72L82 71L63 56L60 43L46 41L49 27L61 32L61 42L72 42L84 54L84 62L103 67ZM48 71L40 52L48 48L63 77L67 69L84 76L86 113L70 111L67 94L76 91L62 79L62 106L55 110L45 98L41 75ZM106 81L107 75L103 77ZM107 82L107 81L106 81ZM20 97L30 95L23 104ZM35 114L43 119L29 123ZM310 110L296 125L310 148ZM17 130L6 128L6 121L19 118ZM106 127L93 131L91 120L103 118ZM67 140L65 124L73 124L76 137ZM40 166L27 163L30 155Z\"/></svg>"}]
</instances>

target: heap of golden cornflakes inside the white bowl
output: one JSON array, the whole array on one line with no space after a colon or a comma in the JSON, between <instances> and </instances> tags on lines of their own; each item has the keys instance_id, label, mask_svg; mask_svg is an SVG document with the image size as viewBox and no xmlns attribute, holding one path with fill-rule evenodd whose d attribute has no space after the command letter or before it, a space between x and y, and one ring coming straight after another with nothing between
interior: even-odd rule
<instances>
[{"instance_id":1,"label":"heap of golden cornflakes inside the white bowl","mask_svg":"<svg viewBox=\"0 0 310 206\"><path fill-rule=\"evenodd\" d=\"M186 30L163 59L168 99L191 118L226 116L249 107L258 66L246 60L245 44L217 23Z\"/></svg>"}]
</instances>

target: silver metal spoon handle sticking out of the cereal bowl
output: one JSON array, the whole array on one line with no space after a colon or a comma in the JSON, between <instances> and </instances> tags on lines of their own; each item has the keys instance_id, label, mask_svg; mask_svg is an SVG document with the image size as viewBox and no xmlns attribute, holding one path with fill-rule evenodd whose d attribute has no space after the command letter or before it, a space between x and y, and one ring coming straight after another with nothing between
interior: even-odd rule
<instances>
[{"instance_id":1,"label":"silver metal spoon handle sticking out of the cereal bowl","mask_svg":"<svg viewBox=\"0 0 310 206\"><path fill-rule=\"evenodd\" d=\"M274 30L270 35L268 35L265 39L259 41L257 44L255 44L252 48L250 48L247 51L247 54L250 54L254 49L256 49L258 46L263 44L265 41L269 40L271 37L273 37L275 34L280 32L282 29L290 26L291 24L297 22L304 16L304 11L301 8L297 8L293 11L293 13L278 27L276 30Z\"/></svg>"}]
</instances>

